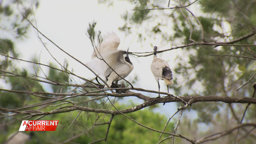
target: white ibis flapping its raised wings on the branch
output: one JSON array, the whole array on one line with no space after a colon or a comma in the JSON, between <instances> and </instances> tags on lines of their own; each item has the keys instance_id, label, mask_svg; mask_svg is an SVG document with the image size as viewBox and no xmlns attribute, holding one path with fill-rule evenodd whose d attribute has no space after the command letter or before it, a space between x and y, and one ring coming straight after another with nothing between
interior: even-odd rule
<instances>
[{"instance_id":1,"label":"white ibis flapping its raised wings on the branch","mask_svg":"<svg viewBox=\"0 0 256 144\"><path fill-rule=\"evenodd\" d=\"M92 53L92 61L87 66L100 76L106 77L109 87L115 81L127 77L133 70L133 63L129 59L128 50L117 50L120 39L114 32L103 37L103 41L97 46L98 51ZM123 55L125 54L125 57ZM119 75L119 76L118 76ZM105 85L104 88L107 88Z\"/></svg>"}]
</instances>

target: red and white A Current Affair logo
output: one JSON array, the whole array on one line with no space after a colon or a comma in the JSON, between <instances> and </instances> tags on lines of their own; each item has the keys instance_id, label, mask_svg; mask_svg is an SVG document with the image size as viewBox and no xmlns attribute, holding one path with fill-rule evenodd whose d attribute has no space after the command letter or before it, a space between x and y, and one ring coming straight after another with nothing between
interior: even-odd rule
<instances>
[{"instance_id":1,"label":"red and white A Current Affair logo","mask_svg":"<svg viewBox=\"0 0 256 144\"><path fill-rule=\"evenodd\" d=\"M58 123L57 120L24 120L19 131L55 131Z\"/></svg>"}]
</instances>

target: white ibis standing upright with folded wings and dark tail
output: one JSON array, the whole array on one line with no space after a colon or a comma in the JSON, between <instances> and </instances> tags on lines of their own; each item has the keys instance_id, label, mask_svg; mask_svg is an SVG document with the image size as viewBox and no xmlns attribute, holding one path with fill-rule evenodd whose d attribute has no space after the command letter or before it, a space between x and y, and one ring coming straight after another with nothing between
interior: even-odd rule
<instances>
[{"instance_id":1,"label":"white ibis standing upright with folded wings and dark tail","mask_svg":"<svg viewBox=\"0 0 256 144\"><path fill-rule=\"evenodd\" d=\"M173 72L171 72L170 66L164 59L160 59L156 56L157 46L154 46L154 58L151 63L151 71L158 83L158 92L160 92L159 79L164 80L167 85L167 92L169 93L169 85L173 84ZM160 94L158 97L160 98Z\"/></svg>"}]
</instances>

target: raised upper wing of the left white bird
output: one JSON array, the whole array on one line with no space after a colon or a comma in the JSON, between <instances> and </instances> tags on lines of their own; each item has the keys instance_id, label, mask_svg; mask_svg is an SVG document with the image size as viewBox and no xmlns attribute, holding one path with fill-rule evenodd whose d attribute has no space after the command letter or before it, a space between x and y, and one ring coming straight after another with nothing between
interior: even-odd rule
<instances>
[{"instance_id":1,"label":"raised upper wing of the left white bird","mask_svg":"<svg viewBox=\"0 0 256 144\"><path fill-rule=\"evenodd\" d=\"M96 49L92 52L92 59L94 57L100 57L100 54L107 53L109 51L116 51L120 44L120 38L114 32L108 32L103 36L103 41L96 46ZM100 54L99 54L100 53Z\"/></svg>"}]
</instances>

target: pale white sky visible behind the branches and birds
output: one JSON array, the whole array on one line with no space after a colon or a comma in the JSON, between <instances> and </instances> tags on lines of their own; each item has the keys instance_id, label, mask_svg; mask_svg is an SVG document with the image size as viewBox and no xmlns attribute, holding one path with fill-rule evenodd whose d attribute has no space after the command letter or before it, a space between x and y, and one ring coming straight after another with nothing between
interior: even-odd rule
<instances>
[{"instance_id":1,"label":"pale white sky visible behind the branches and birds","mask_svg":"<svg viewBox=\"0 0 256 144\"><path fill-rule=\"evenodd\" d=\"M126 10L129 12L132 8L133 6L124 1L116 1L114 6L107 6L99 5L98 1L92 0L72 2L67 0L43 0L40 1L39 8L35 14L35 19L39 31L63 50L76 57L76 59L79 59L83 63L87 63L88 61L91 61L93 48L85 33L87 26L89 23L92 23L92 21L97 22L96 30L101 30L102 34L115 32L118 37L120 37L121 43L118 47L120 50L126 50L130 47L130 52L153 51L153 48L149 43L144 43L142 45L136 41L136 32L133 32L131 36L125 36L123 32L118 30L118 27L123 26L124 24L121 15ZM42 39L48 50L50 50L50 53L58 59L59 63L63 64L63 62L67 60L70 69L73 68L74 73L78 74L78 76L87 79L95 77L83 65L78 63L78 61L75 61L67 56L67 54L61 52L61 50L52 45L47 39L43 37ZM171 46L162 45L160 39L153 41L153 45L157 45L160 50L170 48ZM28 32L28 39L17 42L17 50L20 53L20 58L25 60L31 60L34 56L37 56L39 57L40 63L48 64L50 61L54 61L39 41L37 32L32 28L30 28ZM175 65L172 64L178 53L178 50L171 50L171 52L165 52L158 57L165 59L169 63L171 69L173 69L175 68ZM157 82L150 69L153 56L130 58L134 64L134 69L125 79L131 81L135 76L138 76L138 81L136 81L134 87L158 90ZM25 65L27 64L23 63L22 67ZM47 73L47 68L43 68L43 70ZM175 73L173 75L175 78ZM77 83L83 83L83 81L78 80ZM120 81L120 83L122 83L122 81ZM167 92L164 81L160 81L160 85L160 90ZM172 93L173 90L170 88L169 92ZM151 94L149 96L156 97L158 94ZM127 99L125 98L125 100ZM137 101L138 99L135 98L135 100ZM143 103L143 101L140 101L140 103ZM176 105L175 103L166 103L164 106L160 104L160 108L156 111L169 117L176 112Z\"/></svg>"}]
</instances>

